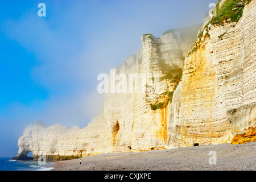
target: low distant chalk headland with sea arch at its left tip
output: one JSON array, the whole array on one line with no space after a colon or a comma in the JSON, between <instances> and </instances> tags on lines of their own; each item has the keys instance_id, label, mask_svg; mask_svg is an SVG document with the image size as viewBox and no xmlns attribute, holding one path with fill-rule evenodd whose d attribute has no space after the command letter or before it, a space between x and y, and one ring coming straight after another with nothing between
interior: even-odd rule
<instances>
[{"instance_id":1,"label":"low distant chalk headland with sea arch at its left tip","mask_svg":"<svg viewBox=\"0 0 256 182\"><path fill-rule=\"evenodd\" d=\"M95 117L84 129L79 129L78 126L67 129L60 124L47 126L41 121L36 121L28 126L19 138L19 152L14 159L30 159L26 157L30 151L35 160L46 155L47 160L52 161L100 154L104 152L103 138L104 123L101 115Z\"/></svg>"}]
</instances>

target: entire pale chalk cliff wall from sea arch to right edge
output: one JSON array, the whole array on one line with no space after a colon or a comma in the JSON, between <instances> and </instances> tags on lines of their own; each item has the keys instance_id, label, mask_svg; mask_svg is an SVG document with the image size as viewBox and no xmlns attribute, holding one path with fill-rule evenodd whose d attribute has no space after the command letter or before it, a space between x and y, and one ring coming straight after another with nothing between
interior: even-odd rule
<instances>
[{"instance_id":1,"label":"entire pale chalk cliff wall from sea arch to right edge","mask_svg":"<svg viewBox=\"0 0 256 182\"><path fill-rule=\"evenodd\" d=\"M49 160L61 160L226 143L245 135L256 126L255 12L253 0L237 23L204 23L197 40L199 26L160 38L144 34L142 49L109 74L118 81L109 82L102 114L84 129L35 122L19 138L16 159L30 151L34 159L45 152ZM146 80L130 84L131 73Z\"/></svg>"}]
</instances>

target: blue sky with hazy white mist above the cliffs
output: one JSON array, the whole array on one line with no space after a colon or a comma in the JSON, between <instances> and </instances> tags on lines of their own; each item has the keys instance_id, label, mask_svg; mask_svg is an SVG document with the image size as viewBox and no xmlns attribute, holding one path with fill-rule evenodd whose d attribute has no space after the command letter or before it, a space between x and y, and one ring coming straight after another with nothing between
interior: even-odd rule
<instances>
[{"instance_id":1,"label":"blue sky with hazy white mist above the cliffs","mask_svg":"<svg viewBox=\"0 0 256 182\"><path fill-rule=\"evenodd\" d=\"M103 108L98 74L137 53L143 34L201 24L216 2L0 1L0 156L18 154L34 121L87 126Z\"/></svg>"}]
</instances>

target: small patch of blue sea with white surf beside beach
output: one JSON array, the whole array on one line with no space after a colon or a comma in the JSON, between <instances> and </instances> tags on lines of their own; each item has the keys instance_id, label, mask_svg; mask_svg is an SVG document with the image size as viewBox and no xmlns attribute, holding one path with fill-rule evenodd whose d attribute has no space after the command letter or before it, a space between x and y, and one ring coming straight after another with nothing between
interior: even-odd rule
<instances>
[{"instance_id":1,"label":"small patch of blue sea with white surf beside beach","mask_svg":"<svg viewBox=\"0 0 256 182\"><path fill-rule=\"evenodd\" d=\"M39 164L34 160L12 160L0 158L0 171L49 171L53 163Z\"/></svg>"}]
</instances>

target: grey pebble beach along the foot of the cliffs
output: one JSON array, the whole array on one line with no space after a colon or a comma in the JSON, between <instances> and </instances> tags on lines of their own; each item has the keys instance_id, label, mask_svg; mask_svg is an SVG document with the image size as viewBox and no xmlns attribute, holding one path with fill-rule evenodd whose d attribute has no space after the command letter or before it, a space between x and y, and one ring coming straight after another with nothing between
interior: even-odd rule
<instances>
[{"instance_id":1,"label":"grey pebble beach along the foot of the cliffs","mask_svg":"<svg viewBox=\"0 0 256 182\"><path fill-rule=\"evenodd\" d=\"M216 164L209 164L216 152ZM256 142L108 153L53 163L51 171L256 170Z\"/></svg>"}]
</instances>

